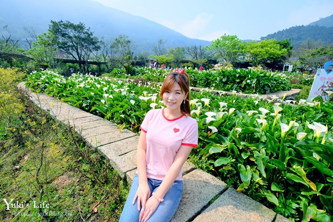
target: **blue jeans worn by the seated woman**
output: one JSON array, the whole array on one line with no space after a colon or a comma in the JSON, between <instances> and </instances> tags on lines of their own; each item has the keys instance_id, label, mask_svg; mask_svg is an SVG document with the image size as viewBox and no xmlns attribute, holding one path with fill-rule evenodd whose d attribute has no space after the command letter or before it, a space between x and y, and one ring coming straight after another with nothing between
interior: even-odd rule
<instances>
[{"instance_id":1,"label":"blue jeans worn by the seated woman","mask_svg":"<svg viewBox=\"0 0 333 222\"><path fill-rule=\"evenodd\" d=\"M148 186L152 194L159 188L162 180L149 179ZM138 198L132 204L134 196L139 187L139 176L135 174L129 191L124 209L122 210L119 222L138 222L140 211L138 211ZM155 212L150 216L147 222L169 222L179 206L183 193L183 180L175 180L170 189L164 196L164 201L156 208ZM150 194L150 195L151 195Z\"/></svg>"}]
</instances>

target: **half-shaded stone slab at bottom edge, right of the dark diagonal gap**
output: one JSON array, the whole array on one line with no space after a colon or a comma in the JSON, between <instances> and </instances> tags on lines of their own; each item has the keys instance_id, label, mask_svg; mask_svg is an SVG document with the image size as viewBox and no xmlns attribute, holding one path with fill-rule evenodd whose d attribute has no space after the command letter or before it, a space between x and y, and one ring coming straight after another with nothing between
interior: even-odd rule
<instances>
[{"instance_id":1,"label":"half-shaded stone slab at bottom edge, right of the dark diagonal gap","mask_svg":"<svg viewBox=\"0 0 333 222\"><path fill-rule=\"evenodd\" d=\"M193 222L271 222L275 212L229 188Z\"/></svg>"}]
</instances>

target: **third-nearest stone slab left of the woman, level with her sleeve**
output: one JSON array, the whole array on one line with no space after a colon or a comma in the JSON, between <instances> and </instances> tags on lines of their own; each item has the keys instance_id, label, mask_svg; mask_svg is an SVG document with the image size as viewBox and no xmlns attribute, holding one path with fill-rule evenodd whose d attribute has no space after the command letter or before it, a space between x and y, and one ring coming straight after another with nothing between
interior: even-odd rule
<instances>
[{"instance_id":1,"label":"third-nearest stone slab left of the woman, level with her sleeve","mask_svg":"<svg viewBox=\"0 0 333 222\"><path fill-rule=\"evenodd\" d=\"M123 129L121 132L117 130L86 138L86 142L91 147L101 147L133 136L136 136L136 134L127 129Z\"/></svg>"}]
</instances>

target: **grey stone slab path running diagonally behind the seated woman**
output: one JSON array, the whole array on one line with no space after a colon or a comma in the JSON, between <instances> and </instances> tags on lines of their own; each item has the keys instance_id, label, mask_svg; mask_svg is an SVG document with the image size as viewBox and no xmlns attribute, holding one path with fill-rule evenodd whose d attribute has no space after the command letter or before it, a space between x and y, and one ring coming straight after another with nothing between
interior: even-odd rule
<instances>
[{"instance_id":1,"label":"grey stone slab path running diagonally behind the seated woman","mask_svg":"<svg viewBox=\"0 0 333 222\"><path fill-rule=\"evenodd\" d=\"M19 87L25 88L24 82ZM31 93L31 100L58 121L74 126L86 143L110 160L121 178L129 184L136 171L136 146L139 137L115 123L75 108L58 99ZM172 222L288 222L261 203L236 192L213 175L186 162L184 192Z\"/></svg>"}]
</instances>

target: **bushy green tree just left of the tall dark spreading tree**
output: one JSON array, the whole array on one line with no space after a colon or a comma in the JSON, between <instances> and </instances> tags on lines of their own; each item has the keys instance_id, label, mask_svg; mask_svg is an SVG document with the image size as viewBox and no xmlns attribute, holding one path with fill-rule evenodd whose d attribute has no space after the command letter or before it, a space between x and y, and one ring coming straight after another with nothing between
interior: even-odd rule
<instances>
[{"instance_id":1,"label":"bushy green tree just left of the tall dark spreading tree","mask_svg":"<svg viewBox=\"0 0 333 222\"><path fill-rule=\"evenodd\" d=\"M34 58L34 63L44 69L52 65L54 68L55 52L54 35L50 32L37 35L37 42L32 42L28 53Z\"/></svg>"}]
</instances>

